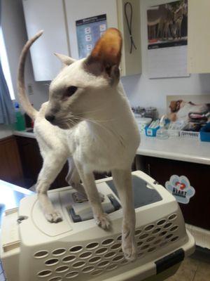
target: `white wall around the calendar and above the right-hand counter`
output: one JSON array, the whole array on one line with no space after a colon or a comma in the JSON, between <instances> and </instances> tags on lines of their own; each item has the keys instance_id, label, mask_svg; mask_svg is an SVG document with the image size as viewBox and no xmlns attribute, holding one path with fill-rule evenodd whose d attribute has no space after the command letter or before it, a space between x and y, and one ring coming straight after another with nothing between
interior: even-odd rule
<instances>
[{"instance_id":1,"label":"white wall around the calendar and above the right-hand counter","mask_svg":"<svg viewBox=\"0 0 210 281\"><path fill-rule=\"evenodd\" d=\"M122 79L131 105L158 107L160 115L166 111L167 95L210 93L210 74L192 74L190 77L183 78L148 79L146 7L163 4L164 1L169 2L169 0L141 0L142 74Z\"/></svg>"}]
</instances>

